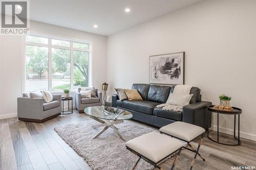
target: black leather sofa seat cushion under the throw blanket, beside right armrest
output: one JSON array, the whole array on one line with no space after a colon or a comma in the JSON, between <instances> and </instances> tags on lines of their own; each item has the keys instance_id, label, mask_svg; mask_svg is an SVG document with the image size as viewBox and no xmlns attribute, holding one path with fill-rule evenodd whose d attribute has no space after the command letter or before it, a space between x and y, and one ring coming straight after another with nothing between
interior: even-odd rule
<instances>
[{"instance_id":1,"label":"black leather sofa seat cushion under the throw blanket, beside right armrest","mask_svg":"<svg viewBox=\"0 0 256 170\"><path fill-rule=\"evenodd\" d=\"M154 115L157 117L182 121L182 112L180 111L162 110L162 108L160 107L154 109Z\"/></svg>"}]
</instances>

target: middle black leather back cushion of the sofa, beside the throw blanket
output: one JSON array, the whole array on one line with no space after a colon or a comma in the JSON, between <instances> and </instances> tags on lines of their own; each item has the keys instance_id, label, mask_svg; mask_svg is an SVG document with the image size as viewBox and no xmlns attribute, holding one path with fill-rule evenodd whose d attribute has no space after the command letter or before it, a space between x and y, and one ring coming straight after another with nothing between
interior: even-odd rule
<instances>
[{"instance_id":1,"label":"middle black leather back cushion of the sofa, beside the throw blanket","mask_svg":"<svg viewBox=\"0 0 256 170\"><path fill-rule=\"evenodd\" d=\"M151 85L148 90L147 100L159 103L165 103L168 99L170 86Z\"/></svg>"}]
</instances>

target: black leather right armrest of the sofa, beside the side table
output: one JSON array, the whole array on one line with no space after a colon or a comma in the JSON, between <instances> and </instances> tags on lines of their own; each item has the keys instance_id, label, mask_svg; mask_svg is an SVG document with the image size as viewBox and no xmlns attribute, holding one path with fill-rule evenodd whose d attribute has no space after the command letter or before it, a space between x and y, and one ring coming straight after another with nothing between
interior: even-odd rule
<instances>
[{"instance_id":1,"label":"black leather right armrest of the sofa, beside the side table","mask_svg":"<svg viewBox=\"0 0 256 170\"><path fill-rule=\"evenodd\" d=\"M201 101L186 105L182 109L182 122L194 124L208 130L211 126L211 112L207 106L211 102Z\"/></svg>"}]
</instances>

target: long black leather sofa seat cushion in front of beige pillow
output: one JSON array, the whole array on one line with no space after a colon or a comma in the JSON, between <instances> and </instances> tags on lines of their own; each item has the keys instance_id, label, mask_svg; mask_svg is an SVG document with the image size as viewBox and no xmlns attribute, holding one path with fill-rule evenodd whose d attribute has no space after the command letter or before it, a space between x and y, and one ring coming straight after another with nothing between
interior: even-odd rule
<instances>
[{"instance_id":1,"label":"long black leather sofa seat cushion in front of beige pillow","mask_svg":"<svg viewBox=\"0 0 256 170\"><path fill-rule=\"evenodd\" d=\"M137 112L153 115L154 108L161 103L151 101L129 101L129 100L118 100L116 105L122 108L134 110Z\"/></svg>"}]
</instances>

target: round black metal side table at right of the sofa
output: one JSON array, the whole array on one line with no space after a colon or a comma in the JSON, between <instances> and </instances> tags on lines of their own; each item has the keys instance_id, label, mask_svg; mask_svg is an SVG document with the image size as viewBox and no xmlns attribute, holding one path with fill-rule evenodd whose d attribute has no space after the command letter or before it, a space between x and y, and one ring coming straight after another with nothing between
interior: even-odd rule
<instances>
[{"instance_id":1,"label":"round black metal side table at right of the sofa","mask_svg":"<svg viewBox=\"0 0 256 170\"><path fill-rule=\"evenodd\" d=\"M225 110L217 110L214 109L214 105L210 105L207 107L208 108L208 112L215 112L218 114L217 117L217 140L211 139L209 136L209 130L207 132L207 137L217 143L220 144L225 144L225 145L240 145L241 144L241 140L240 140L240 114L242 114L242 109L237 108L237 107L232 107L233 110L232 111L225 111ZM223 143L223 142L219 142L219 114L228 114L228 115L234 115L234 138L238 140L238 143ZM236 116L238 115L238 137L236 136Z\"/></svg>"}]
</instances>

